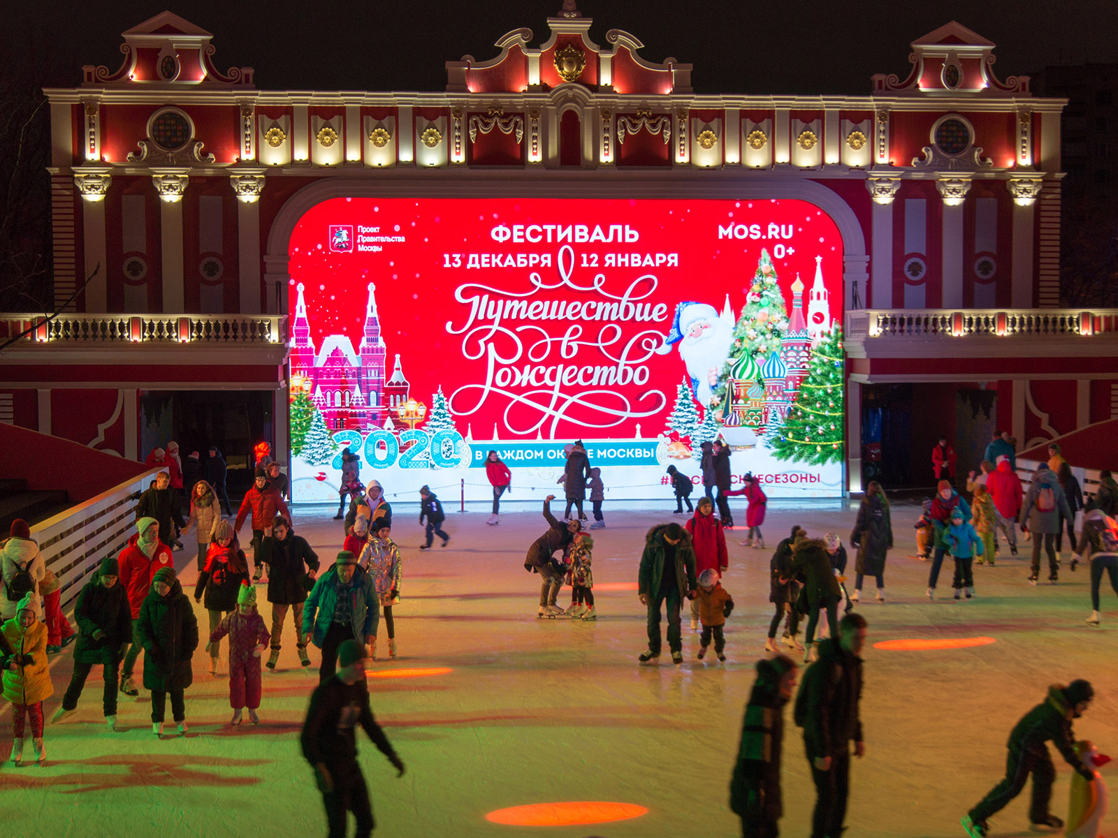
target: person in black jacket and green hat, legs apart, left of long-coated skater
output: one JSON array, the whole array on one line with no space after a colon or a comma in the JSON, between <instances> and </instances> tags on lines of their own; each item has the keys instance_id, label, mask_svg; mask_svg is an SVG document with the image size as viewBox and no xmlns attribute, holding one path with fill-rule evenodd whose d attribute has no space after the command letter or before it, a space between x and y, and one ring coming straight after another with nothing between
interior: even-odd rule
<instances>
[{"instance_id":1,"label":"person in black jacket and green hat, legs apart, left of long-coated skater","mask_svg":"<svg viewBox=\"0 0 1118 838\"><path fill-rule=\"evenodd\" d=\"M77 712L85 679L95 664L102 664L105 689L102 701L105 721L116 730L116 683L121 666L121 649L132 639L132 612L127 591L120 583L120 564L114 556L101 561L82 592L77 594L74 620L77 622L77 642L74 645L74 674L70 676L63 706L51 723Z\"/></svg>"}]
</instances>

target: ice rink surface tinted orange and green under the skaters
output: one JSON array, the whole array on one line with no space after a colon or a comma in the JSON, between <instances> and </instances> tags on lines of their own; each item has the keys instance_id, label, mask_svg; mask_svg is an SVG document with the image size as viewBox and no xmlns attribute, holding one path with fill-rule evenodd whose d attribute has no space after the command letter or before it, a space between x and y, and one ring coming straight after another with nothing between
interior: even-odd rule
<instances>
[{"instance_id":1,"label":"ice rink surface tinted orange and green under the skaters","mask_svg":"<svg viewBox=\"0 0 1118 838\"><path fill-rule=\"evenodd\" d=\"M635 590L637 563L651 525L684 521L671 514L670 499L629 510L606 504L607 528L595 533L597 622L536 618L539 577L525 573L522 563L528 545L546 528L538 508L509 506L499 526L486 526L487 510L459 514L451 507L447 503L449 545L443 549L436 541L427 552L417 549L417 506L396 507L394 536L405 561L401 602L395 609L400 656L370 663L369 670L420 672L369 680L373 712L407 764L407 774L396 779L387 760L359 734L376 835L739 835L738 819L728 808L728 783L754 664L762 655L771 616L771 547L794 523L813 536L834 530L845 543L855 508L840 502L811 507L773 502L764 526L769 549L764 551L739 545L743 530L728 533L730 569L723 585L737 603L727 623L728 660L719 664L712 655L697 660L698 635L685 620L684 663L676 667L666 644L659 665L636 661L646 646L644 608ZM342 540L342 524L331 514L295 510L295 532L324 562L332 561ZM1072 573L1065 560L1058 585L1031 587L1025 582L1027 561L1011 559L1003 546L997 566L975 569L976 599L950 599L950 566L945 563L940 599L929 602L928 564L913 558L918 515L917 506L893 507L897 547L885 569L887 602L874 602L872 588L866 588L859 606L869 621L869 644L968 637L995 642L936 651L866 648L866 754L854 761L846 819L847 835L858 838L961 836L959 817L1004 770L1011 727L1044 699L1052 683L1077 677L1093 682L1095 703L1076 732L1103 753L1118 751L1115 594L1103 590L1102 626L1091 628L1084 623L1090 601L1082 566ZM192 534L186 542L188 550L176 558L192 594ZM852 553L851 590L853 570ZM258 591L260 612L271 622L264 585ZM565 588L560 603L569 602ZM205 611L200 606L196 610L206 626ZM382 629L381 636L378 653L385 655ZM290 622L280 668L264 674L258 727L228 726L227 664L210 676L199 647L195 684L187 691L186 737L152 735L145 691L139 698L121 697L122 730L107 732L100 667L77 714L51 725L49 716L69 679L72 649L53 659L55 695L45 707L48 765L0 768L0 811L13 835L325 832L321 798L297 745L319 656L312 650L312 667L299 666ZM443 672L421 672L430 669ZM140 667L138 680L139 675ZM805 836L814 787L800 731L790 716L787 707L780 828L785 836ZM7 756L8 706L0 725L0 754ZM168 729L173 732L170 723ZM25 758L30 756L28 743ZM1067 818L1071 771L1054 750L1053 759L1058 780L1052 811ZM992 821L992 835L1031 834L1026 798L1027 791ZM504 826L485 818L506 807L560 801L617 801L648 811L593 826ZM1116 831L1118 812L1106 825Z\"/></svg>"}]
</instances>

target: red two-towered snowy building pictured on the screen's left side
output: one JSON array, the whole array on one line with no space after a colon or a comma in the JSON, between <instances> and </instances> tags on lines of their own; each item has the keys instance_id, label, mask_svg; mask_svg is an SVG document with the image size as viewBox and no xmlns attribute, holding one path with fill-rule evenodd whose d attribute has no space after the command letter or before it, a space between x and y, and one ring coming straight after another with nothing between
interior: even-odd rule
<instances>
[{"instance_id":1,"label":"red two-towered snowy building pictured on the screen's left side","mask_svg":"<svg viewBox=\"0 0 1118 838\"><path fill-rule=\"evenodd\" d=\"M392 385L385 381L385 341L380 336L376 286L369 284L361 341L358 349L348 335L332 334L315 350L303 298L303 283L296 286L299 298L292 324L291 372L311 382L311 400L322 411L332 430L381 428L388 410L388 394L407 401L408 383L396 356Z\"/></svg>"}]
</instances>

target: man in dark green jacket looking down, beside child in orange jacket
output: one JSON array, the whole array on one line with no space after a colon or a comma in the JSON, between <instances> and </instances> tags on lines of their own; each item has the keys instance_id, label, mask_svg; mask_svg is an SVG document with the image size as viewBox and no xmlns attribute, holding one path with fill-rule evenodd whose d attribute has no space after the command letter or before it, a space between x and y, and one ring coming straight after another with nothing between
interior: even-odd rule
<instances>
[{"instance_id":1,"label":"man in dark green jacket looking down, beside child in orange jacket","mask_svg":"<svg viewBox=\"0 0 1118 838\"><path fill-rule=\"evenodd\" d=\"M683 635L680 607L683 599L694 599L695 551L691 534L676 523L659 524L644 537L637 597L648 608L648 649L637 658L646 664L660 657L660 607L667 602L667 646L672 661L683 663Z\"/></svg>"}]
</instances>

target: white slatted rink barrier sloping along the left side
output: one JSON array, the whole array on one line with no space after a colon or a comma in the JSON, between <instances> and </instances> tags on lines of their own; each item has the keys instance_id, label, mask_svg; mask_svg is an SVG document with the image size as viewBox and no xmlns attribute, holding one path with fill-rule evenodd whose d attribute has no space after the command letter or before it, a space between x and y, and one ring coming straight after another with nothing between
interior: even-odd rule
<instances>
[{"instance_id":1,"label":"white slatted rink barrier sloping along the left side","mask_svg":"<svg viewBox=\"0 0 1118 838\"><path fill-rule=\"evenodd\" d=\"M58 578L64 612L101 560L127 544L135 531L136 501L161 470L149 469L31 527L47 568Z\"/></svg>"}]
</instances>

